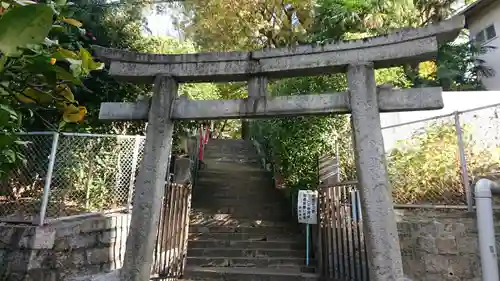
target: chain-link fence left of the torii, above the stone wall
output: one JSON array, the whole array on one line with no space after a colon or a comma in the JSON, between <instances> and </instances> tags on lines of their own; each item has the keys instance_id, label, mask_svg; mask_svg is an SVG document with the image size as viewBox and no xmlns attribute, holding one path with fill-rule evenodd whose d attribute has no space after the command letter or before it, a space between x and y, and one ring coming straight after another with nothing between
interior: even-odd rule
<instances>
[{"instance_id":1,"label":"chain-link fence left of the torii, above the stone wall","mask_svg":"<svg viewBox=\"0 0 500 281\"><path fill-rule=\"evenodd\" d=\"M0 219L41 223L129 208L145 138L27 133L25 158L1 184Z\"/></svg>"}]
</instances>

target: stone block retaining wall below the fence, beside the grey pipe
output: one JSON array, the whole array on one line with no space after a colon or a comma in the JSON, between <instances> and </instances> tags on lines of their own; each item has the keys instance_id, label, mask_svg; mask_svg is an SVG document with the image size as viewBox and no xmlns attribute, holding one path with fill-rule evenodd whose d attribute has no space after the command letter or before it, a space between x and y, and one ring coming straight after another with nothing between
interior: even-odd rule
<instances>
[{"instance_id":1,"label":"stone block retaining wall below the fence, beside the grey pipe","mask_svg":"<svg viewBox=\"0 0 500 281\"><path fill-rule=\"evenodd\" d=\"M397 210L405 274L413 281L481 279L475 214ZM500 220L496 220L500 234ZM497 248L500 236L497 235Z\"/></svg>"}]
</instances>

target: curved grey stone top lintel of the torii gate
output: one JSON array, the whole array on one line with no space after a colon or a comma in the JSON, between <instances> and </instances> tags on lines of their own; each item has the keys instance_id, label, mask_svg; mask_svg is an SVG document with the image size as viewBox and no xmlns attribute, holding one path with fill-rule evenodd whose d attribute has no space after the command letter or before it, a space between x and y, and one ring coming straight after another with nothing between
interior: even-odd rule
<instances>
[{"instance_id":1,"label":"curved grey stone top lintel of the torii gate","mask_svg":"<svg viewBox=\"0 0 500 281\"><path fill-rule=\"evenodd\" d=\"M131 82L151 83L162 74L179 82L244 81L252 76L282 78L335 73L357 62L373 62L380 68L433 59L438 43L453 40L464 22L463 16L456 16L433 25L361 40L252 52L163 55L100 46L93 49L98 58L111 62L111 75Z\"/></svg>"}]
</instances>

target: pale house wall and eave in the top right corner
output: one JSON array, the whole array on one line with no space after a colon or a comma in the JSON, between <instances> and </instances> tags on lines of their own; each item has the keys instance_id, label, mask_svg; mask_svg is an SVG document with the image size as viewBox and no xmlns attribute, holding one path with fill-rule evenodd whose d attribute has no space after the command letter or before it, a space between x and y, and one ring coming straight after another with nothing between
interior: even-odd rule
<instances>
[{"instance_id":1,"label":"pale house wall and eave in the top right corner","mask_svg":"<svg viewBox=\"0 0 500 281\"><path fill-rule=\"evenodd\" d=\"M469 22L469 31L470 35L474 36L482 29L490 26L491 24L495 25L495 30L497 33L497 37L486 41L484 43L485 46L494 46L497 49L491 50L490 52L481 56L481 59L486 61L486 64L493 68L496 72L496 76L490 78L483 78L481 81L486 89L491 91L500 90L500 2L499 1L491 1L493 2L487 9L481 10L480 13L467 19Z\"/></svg>"}]
</instances>

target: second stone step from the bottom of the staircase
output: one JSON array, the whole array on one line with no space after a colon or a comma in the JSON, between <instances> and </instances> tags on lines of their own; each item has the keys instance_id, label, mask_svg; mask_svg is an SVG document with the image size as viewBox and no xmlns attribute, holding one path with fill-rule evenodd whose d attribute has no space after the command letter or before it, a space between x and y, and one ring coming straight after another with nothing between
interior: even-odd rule
<instances>
[{"instance_id":1,"label":"second stone step from the bottom of the staircase","mask_svg":"<svg viewBox=\"0 0 500 281\"><path fill-rule=\"evenodd\" d=\"M288 268L300 267L305 258L251 258L251 257L187 257L188 266L200 267L253 267L253 268Z\"/></svg>"}]
</instances>

